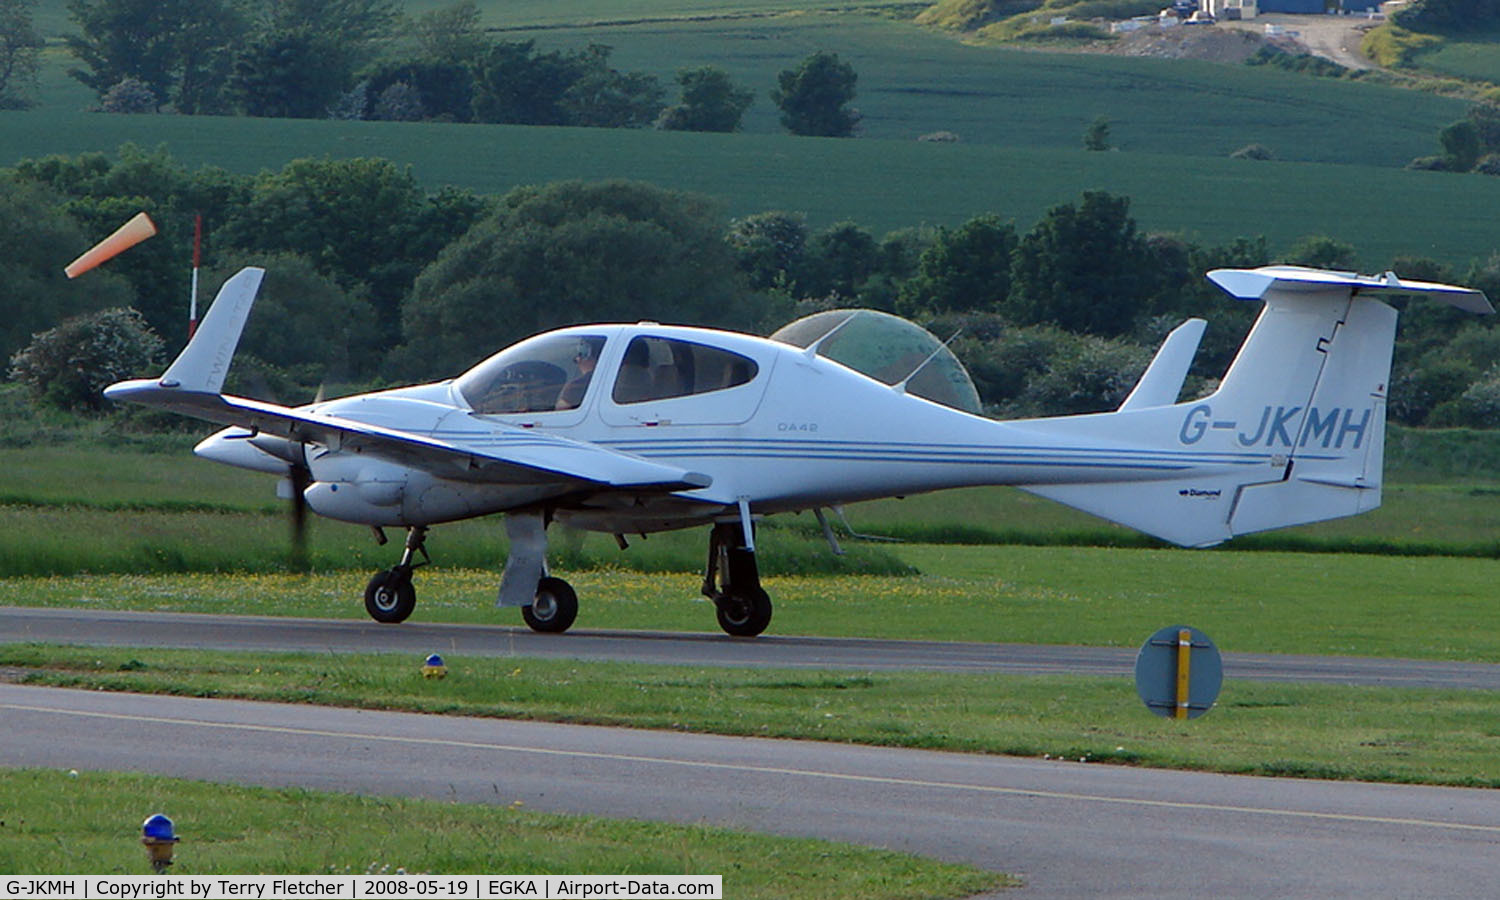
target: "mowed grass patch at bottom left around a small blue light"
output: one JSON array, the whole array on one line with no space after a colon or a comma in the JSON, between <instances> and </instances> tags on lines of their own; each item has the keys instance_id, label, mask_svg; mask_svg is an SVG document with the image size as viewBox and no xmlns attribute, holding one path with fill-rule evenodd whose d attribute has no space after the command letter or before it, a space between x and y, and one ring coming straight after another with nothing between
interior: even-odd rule
<instances>
[{"instance_id":1,"label":"mowed grass patch at bottom left around a small blue light","mask_svg":"<svg viewBox=\"0 0 1500 900\"><path fill-rule=\"evenodd\" d=\"M504 802L504 798L500 798ZM820 840L478 806L0 770L0 872L150 874L140 822L172 818L172 874L723 874L726 897L966 897L1005 876ZM744 866L744 860L756 866Z\"/></svg>"}]
</instances>

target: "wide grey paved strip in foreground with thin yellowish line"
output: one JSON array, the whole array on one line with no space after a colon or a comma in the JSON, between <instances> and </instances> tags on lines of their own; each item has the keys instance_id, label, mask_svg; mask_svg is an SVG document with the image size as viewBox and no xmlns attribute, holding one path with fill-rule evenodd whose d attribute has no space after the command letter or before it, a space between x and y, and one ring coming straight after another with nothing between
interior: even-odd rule
<instances>
[{"instance_id":1,"label":"wide grey paved strip in foreground with thin yellowish line","mask_svg":"<svg viewBox=\"0 0 1500 900\"><path fill-rule=\"evenodd\" d=\"M1011 897L1480 897L1500 874L1492 790L6 684L0 765L819 836L1022 874Z\"/></svg>"}]
</instances>

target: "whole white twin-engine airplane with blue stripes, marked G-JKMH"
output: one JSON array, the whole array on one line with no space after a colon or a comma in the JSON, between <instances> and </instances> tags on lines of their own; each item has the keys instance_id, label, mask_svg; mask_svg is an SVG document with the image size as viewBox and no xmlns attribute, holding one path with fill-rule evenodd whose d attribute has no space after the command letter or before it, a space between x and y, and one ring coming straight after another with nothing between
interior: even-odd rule
<instances>
[{"instance_id":1,"label":"whole white twin-engine airplane with blue stripes, marked G-JKMH","mask_svg":"<svg viewBox=\"0 0 1500 900\"><path fill-rule=\"evenodd\" d=\"M1178 402L1203 333L1188 320L1119 410L1058 418L994 422L916 396L909 382L940 345L896 384L828 358L855 312L804 346L654 322L568 327L452 381L290 408L220 393L262 274L225 282L165 375L105 394L231 426L196 453L290 477L322 516L381 538L404 526L400 561L364 591L382 622L411 615L429 526L506 513L498 604L538 632L578 615L572 586L548 573L552 522L621 546L711 525L704 594L724 632L754 636L771 621L754 520L772 513L814 510L837 549L822 507L974 484L1016 484L1184 546L1372 510L1396 312L1370 296L1494 312L1479 291L1390 273L1216 270L1208 278L1228 294L1264 302L1216 392Z\"/></svg>"}]
</instances>

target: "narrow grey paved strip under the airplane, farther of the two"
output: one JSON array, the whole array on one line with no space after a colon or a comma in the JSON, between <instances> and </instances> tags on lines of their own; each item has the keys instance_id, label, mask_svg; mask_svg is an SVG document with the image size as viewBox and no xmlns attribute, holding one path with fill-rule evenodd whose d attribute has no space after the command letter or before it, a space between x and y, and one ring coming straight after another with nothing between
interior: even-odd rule
<instances>
[{"instance_id":1,"label":"narrow grey paved strip under the airplane, farther of the two","mask_svg":"<svg viewBox=\"0 0 1500 900\"><path fill-rule=\"evenodd\" d=\"M1142 638L1144 639L1144 636ZM0 642L429 652L627 660L686 666L926 669L942 672L1130 676L1136 648L1042 646L786 638L753 640L664 632L537 634L504 626L380 626L369 620L302 620L98 609L0 608ZM1224 652L1226 678L1388 687L1500 690L1500 664Z\"/></svg>"}]
</instances>

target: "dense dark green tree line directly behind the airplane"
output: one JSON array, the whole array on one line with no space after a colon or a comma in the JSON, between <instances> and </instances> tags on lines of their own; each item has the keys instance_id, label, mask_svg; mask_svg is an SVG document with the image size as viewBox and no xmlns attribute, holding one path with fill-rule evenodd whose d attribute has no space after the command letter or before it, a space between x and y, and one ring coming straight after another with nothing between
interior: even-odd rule
<instances>
[{"instance_id":1,"label":"dense dark green tree line directly behind the airplane","mask_svg":"<svg viewBox=\"0 0 1500 900\"><path fill-rule=\"evenodd\" d=\"M0 184L12 258L0 273L10 314L0 320L0 358L40 399L82 408L99 404L99 386L160 364L184 342L194 213L207 222L210 291L242 266L267 268L231 388L284 402L309 399L324 381L448 376L578 322L768 333L864 306L944 339L957 333L952 348L992 412L1083 412L1118 405L1190 315L1210 322L1190 388L1222 374L1257 308L1230 302L1204 272L1359 267L1354 248L1328 236L1274 252L1262 237L1206 246L1149 234L1128 198L1104 192L1059 204L1026 231L981 214L878 237L854 222L812 228L790 212L730 219L711 198L639 182L562 182L498 198L424 192L410 170L381 159L236 176L126 146L116 159L24 160ZM141 208L159 237L84 279L63 278L68 260ZM1500 256L1456 273L1420 258L1384 267L1500 297ZM1406 309L1390 416L1500 428L1500 333L1437 304Z\"/></svg>"}]
</instances>

